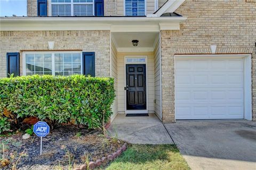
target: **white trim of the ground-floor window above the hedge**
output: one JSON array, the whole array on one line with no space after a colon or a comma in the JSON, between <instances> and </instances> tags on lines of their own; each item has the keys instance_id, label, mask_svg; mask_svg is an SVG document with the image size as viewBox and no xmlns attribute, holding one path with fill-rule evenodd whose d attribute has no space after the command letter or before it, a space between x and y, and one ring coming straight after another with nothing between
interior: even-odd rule
<instances>
[{"instance_id":1,"label":"white trim of the ground-floor window above the hedge","mask_svg":"<svg viewBox=\"0 0 256 170\"><path fill-rule=\"evenodd\" d=\"M22 52L22 75L26 76L26 54L52 54L52 75L55 76L55 60L54 54L72 54L80 53L81 54L81 75L83 74L83 52L82 51L25 51ZM73 67L73 66L72 66Z\"/></svg>"}]
</instances>

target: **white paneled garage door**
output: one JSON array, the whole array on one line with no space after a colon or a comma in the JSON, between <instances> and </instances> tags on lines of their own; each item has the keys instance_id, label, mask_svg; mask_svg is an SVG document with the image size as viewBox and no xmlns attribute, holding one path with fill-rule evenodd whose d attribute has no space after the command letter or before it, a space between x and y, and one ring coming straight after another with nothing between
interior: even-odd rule
<instances>
[{"instance_id":1,"label":"white paneled garage door","mask_svg":"<svg viewBox=\"0 0 256 170\"><path fill-rule=\"evenodd\" d=\"M243 115L243 59L175 59L176 119Z\"/></svg>"}]
</instances>

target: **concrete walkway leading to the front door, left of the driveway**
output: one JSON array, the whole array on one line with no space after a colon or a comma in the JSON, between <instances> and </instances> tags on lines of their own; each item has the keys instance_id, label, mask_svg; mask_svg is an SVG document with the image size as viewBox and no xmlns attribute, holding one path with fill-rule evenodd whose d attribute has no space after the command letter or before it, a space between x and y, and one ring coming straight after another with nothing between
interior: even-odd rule
<instances>
[{"instance_id":1,"label":"concrete walkway leading to the front door, left of the driveway","mask_svg":"<svg viewBox=\"0 0 256 170\"><path fill-rule=\"evenodd\" d=\"M125 117L125 114L118 114L108 132L118 139L134 144L173 144L155 114L149 114L148 117Z\"/></svg>"}]
</instances>

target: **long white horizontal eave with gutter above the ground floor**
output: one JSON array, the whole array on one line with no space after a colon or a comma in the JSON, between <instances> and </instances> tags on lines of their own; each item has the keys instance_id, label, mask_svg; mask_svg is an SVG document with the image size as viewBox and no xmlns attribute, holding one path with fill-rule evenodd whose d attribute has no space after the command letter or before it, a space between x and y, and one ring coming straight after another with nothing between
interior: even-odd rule
<instances>
[{"instance_id":1,"label":"long white horizontal eave with gutter above the ground floor","mask_svg":"<svg viewBox=\"0 0 256 170\"><path fill-rule=\"evenodd\" d=\"M186 17L2 17L2 31L111 30L111 32L156 32L179 29Z\"/></svg>"}]
</instances>

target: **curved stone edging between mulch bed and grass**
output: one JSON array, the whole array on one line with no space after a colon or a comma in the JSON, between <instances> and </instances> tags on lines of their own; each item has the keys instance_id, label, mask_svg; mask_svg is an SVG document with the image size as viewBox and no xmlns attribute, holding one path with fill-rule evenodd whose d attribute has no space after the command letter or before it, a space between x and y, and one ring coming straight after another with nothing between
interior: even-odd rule
<instances>
[{"instance_id":1,"label":"curved stone edging between mulch bed and grass","mask_svg":"<svg viewBox=\"0 0 256 170\"><path fill-rule=\"evenodd\" d=\"M101 159L94 161L90 161L89 163L89 169L94 169L95 167L100 166L102 163L107 163L107 161L112 161L116 159L123 151L127 149L127 143L125 142L121 148L119 148L116 152L109 154L107 157L102 157ZM83 164L79 168L75 168L73 170L87 170L87 165Z\"/></svg>"}]
</instances>

